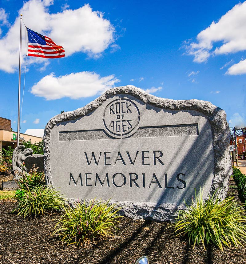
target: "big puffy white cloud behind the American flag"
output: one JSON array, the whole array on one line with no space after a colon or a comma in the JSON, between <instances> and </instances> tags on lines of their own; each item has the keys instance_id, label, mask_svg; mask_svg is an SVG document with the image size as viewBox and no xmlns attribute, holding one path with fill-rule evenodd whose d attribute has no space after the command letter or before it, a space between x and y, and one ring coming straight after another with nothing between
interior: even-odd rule
<instances>
[{"instance_id":1,"label":"big puffy white cloud behind the American flag","mask_svg":"<svg viewBox=\"0 0 246 264\"><path fill-rule=\"evenodd\" d=\"M72 10L65 9L59 13L49 13L50 0L29 0L24 2L19 14L23 14L26 26L38 33L52 38L58 45L64 47L66 56L75 52L84 52L89 57L98 58L102 52L111 46L111 50L119 49L113 46L115 28L109 20L103 18L103 13L93 11L89 4ZM67 8L67 6L66 6ZM1 9L6 23L6 14ZM20 32L20 17L15 19L5 36L0 38L0 70L14 72L18 67L19 42L16 41ZM25 57L25 29L22 30L22 59ZM28 63L43 63L43 59L32 58Z\"/></svg>"}]
</instances>

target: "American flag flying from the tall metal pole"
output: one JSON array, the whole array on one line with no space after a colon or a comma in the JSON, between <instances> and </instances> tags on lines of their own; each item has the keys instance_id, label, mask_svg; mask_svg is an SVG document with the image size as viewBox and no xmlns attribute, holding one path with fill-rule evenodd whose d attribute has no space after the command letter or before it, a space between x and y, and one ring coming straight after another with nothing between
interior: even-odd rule
<instances>
[{"instance_id":1,"label":"American flag flying from the tall metal pole","mask_svg":"<svg viewBox=\"0 0 246 264\"><path fill-rule=\"evenodd\" d=\"M28 34L28 56L42 58L62 58L65 56L65 50L62 46L44 35L39 34L26 27Z\"/></svg>"}]
</instances>

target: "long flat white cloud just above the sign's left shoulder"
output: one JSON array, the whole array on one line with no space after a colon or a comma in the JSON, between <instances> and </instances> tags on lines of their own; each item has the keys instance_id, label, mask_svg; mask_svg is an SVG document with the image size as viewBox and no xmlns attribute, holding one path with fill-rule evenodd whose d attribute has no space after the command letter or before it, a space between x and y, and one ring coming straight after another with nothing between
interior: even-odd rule
<instances>
[{"instance_id":1,"label":"long flat white cloud just above the sign's left shoulder","mask_svg":"<svg viewBox=\"0 0 246 264\"><path fill-rule=\"evenodd\" d=\"M102 94L120 82L114 75L101 77L95 72L77 72L56 77L54 73L46 75L31 88L31 93L55 100L63 97L71 99L85 98ZM52 87L52 89L50 89Z\"/></svg>"}]
</instances>

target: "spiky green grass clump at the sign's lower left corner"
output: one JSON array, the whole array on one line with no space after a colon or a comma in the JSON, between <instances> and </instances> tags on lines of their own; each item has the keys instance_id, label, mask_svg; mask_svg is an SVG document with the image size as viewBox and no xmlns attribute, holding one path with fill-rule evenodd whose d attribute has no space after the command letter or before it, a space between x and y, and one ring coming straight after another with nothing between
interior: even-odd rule
<instances>
[{"instance_id":1,"label":"spiky green grass clump at the sign's lower left corner","mask_svg":"<svg viewBox=\"0 0 246 264\"><path fill-rule=\"evenodd\" d=\"M21 189L18 207L14 210L20 216L39 216L60 210L64 199L54 189L45 186L30 186Z\"/></svg>"}]
</instances>

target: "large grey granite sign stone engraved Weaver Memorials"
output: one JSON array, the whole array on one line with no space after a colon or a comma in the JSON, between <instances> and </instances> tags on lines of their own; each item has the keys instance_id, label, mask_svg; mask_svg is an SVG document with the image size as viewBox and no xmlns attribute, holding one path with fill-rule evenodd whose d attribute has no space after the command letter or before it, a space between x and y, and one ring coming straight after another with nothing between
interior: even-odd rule
<instances>
[{"instance_id":1,"label":"large grey granite sign stone engraved Weaver Memorials","mask_svg":"<svg viewBox=\"0 0 246 264\"><path fill-rule=\"evenodd\" d=\"M117 87L48 122L46 183L71 202L111 198L127 216L170 220L195 188L225 197L229 138L225 112L210 102Z\"/></svg>"}]
</instances>

